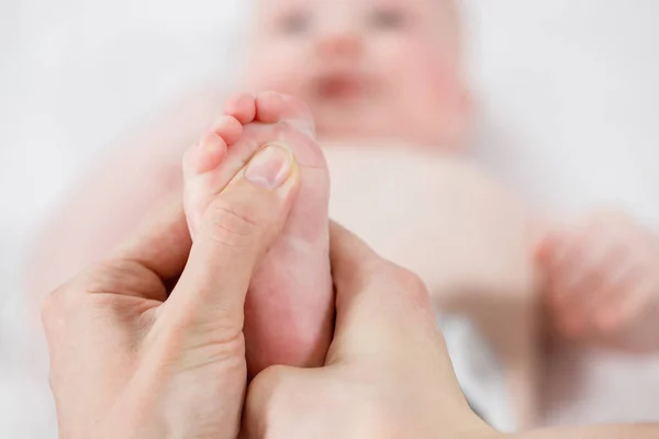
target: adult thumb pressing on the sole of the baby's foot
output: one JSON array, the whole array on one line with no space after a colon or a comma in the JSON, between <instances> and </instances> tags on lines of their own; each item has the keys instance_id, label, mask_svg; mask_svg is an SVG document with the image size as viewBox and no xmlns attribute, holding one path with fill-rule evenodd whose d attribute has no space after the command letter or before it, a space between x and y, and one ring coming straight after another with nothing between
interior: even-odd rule
<instances>
[{"instance_id":1,"label":"adult thumb pressing on the sole of the baby's foot","mask_svg":"<svg viewBox=\"0 0 659 439\"><path fill-rule=\"evenodd\" d=\"M211 202L165 307L242 330L255 266L281 232L298 185L298 168L287 148L267 146L257 153Z\"/></svg>"}]
</instances>

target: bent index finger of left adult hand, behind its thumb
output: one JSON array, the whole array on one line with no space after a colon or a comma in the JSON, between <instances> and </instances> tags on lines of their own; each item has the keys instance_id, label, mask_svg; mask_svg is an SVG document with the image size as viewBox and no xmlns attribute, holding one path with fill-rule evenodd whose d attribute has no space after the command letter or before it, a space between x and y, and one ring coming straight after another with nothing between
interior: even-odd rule
<instances>
[{"instance_id":1,"label":"bent index finger of left adult hand, behind its thumb","mask_svg":"<svg viewBox=\"0 0 659 439\"><path fill-rule=\"evenodd\" d=\"M190 252L190 233L180 194L172 194L148 215L114 259L134 262L152 271L164 282L183 271Z\"/></svg>"}]
</instances>

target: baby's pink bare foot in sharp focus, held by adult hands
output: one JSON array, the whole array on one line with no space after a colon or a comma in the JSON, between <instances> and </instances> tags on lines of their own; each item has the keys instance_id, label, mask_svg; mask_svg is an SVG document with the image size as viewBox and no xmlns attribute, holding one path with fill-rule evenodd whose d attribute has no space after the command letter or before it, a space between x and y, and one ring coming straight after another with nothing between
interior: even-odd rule
<instances>
[{"instance_id":1,"label":"baby's pink bare foot in sharp focus, held by adult hands","mask_svg":"<svg viewBox=\"0 0 659 439\"><path fill-rule=\"evenodd\" d=\"M183 159L186 214L194 236L211 200L265 146L294 156L301 183L283 232L247 293L250 376L272 364L320 367L332 339L330 176L313 139L311 113L300 101L275 92L239 95Z\"/></svg>"}]
</instances>

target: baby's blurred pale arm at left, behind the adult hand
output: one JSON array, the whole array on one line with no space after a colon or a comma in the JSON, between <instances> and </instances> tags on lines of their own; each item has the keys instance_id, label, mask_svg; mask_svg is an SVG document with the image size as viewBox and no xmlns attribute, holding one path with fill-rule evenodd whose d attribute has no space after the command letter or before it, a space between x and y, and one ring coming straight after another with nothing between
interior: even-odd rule
<instances>
[{"instance_id":1,"label":"baby's blurred pale arm at left, behind the adult hand","mask_svg":"<svg viewBox=\"0 0 659 439\"><path fill-rule=\"evenodd\" d=\"M170 192L181 190L183 150L221 109L204 89L120 142L56 212L30 260L29 292L38 303L51 290L102 259Z\"/></svg>"}]
</instances>

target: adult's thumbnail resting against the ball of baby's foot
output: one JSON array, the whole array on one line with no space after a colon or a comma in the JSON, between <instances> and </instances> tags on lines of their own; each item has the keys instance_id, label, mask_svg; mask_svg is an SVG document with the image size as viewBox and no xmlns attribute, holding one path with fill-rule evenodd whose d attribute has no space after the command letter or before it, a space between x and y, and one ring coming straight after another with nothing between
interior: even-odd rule
<instances>
[{"instance_id":1,"label":"adult's thumbnail resting against the ball of baby's foot","mask_svg":"<svg viewBox=\"0 0 659 439\"><path fill-rule=\"evenodd\" d=\"M289 178L292 166L293 156L288 148L266 145L247 165L245 179L267 189L276 189Z\"/></svg>"}]
</instances>

